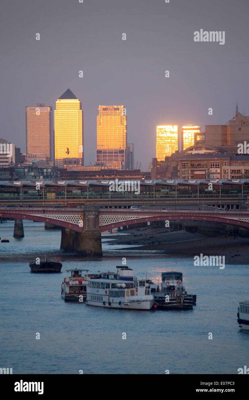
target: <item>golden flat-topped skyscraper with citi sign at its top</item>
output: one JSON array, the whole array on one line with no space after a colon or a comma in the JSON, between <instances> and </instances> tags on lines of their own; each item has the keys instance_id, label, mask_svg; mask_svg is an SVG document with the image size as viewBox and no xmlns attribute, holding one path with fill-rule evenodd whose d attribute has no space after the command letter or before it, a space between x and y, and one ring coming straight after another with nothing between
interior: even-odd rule
<instances>
[{"instance_id":1,"label":"golden flat-topped skyscraper with citi sign at its top","mask_svg":"<svg viewBox=\"0 0 249 400\"><path fill-rule=\"evenodd\" d=\"M127 168L127 119L124 106L99 106L96 165Z\"/></svg>"}]
</instances>

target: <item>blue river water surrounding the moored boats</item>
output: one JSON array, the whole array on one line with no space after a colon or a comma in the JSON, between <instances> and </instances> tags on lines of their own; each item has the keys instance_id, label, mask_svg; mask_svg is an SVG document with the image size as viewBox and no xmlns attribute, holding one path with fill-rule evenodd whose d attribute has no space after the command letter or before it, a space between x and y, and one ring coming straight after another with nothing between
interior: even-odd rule
<instances>
[{"instance_id":1,"label":"blue river water surrounding the moored boats","mask_svg":"<svg viewBox=\"0 0 249 400\"><path fill-rule=\"evenodd\" d=\"M103 257L70 257L58 250L60 231L25 221L18 240L13 229L13 221L0 225L0 237L10 240L0 243L6 260L0 260L0 366L13 374L237 374L249 365L249 333L237 323L238 302L249 299L246 265L196 267L189 258L110 246L105 239ZM30 273L29 260L45 253L56 253L62 271L93 273L116 270L126 257L137 277L147 273L154 282L173 268L183 272L187 292L197 294L197 306L145 312L64 302L65 272Z\"/></svg>"}]
</instances>

